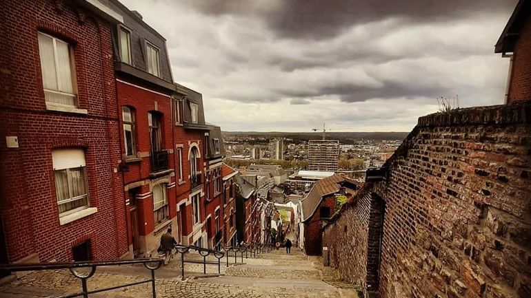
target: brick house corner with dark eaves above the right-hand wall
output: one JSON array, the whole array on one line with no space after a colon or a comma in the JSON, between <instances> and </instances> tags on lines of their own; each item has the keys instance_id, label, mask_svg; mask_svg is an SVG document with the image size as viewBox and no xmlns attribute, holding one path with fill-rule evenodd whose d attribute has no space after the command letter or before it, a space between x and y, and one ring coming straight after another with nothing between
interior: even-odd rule
<instances>
[{"instance_id":1,"label":"brick house corner with dark eaves above the right-hand wall","mask_svg":"<svg viewBox=\"0 0 531 298\"><path fill-rule=\"evenodd\" d=\"M510 58L505 103L531 100L531 1L520 0L494 52Z\"/></svg>"}]
</instances>

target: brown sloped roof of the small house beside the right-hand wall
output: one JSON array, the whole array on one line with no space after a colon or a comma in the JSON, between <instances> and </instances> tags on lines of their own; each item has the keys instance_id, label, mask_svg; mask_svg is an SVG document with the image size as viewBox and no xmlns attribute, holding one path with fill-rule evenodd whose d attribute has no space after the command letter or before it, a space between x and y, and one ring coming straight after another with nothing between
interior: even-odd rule
<instances>
[{"instance_id":1,"label":"brown sloped roof of the small house beside the right-hand wall","mask_svg":"<svg viewBox=\"0 0 531 298\"><path fill-rule=\"evenodd\" d=\"M341 175L332 175L328 178L324 178L315 182L314 187L312 187L312 190L310 190L310 193L308 193L306 198L301 201L303 222L312 217L317 210L317 207L319 207L319 204L321 204L323 196L339 192L339 183L344 181L357 184L354 180L345 178ZM355 191L352 191L351 189L346 189L346 191L352 194L355 193Z\"/></svg>"}]
</instances>

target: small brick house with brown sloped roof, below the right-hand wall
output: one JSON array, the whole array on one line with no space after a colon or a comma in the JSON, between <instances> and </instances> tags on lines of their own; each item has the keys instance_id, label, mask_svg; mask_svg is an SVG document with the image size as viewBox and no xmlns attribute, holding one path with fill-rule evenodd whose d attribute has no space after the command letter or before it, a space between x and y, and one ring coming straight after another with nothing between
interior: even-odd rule
<instances>
[{"instance_id":1,"label":"small brick house with brown sloped roof, below the right-hand wall","mask_svg":"<svg viewBox=\"0 0 531 298\"><path fill-rule=\"evenodd\" d=\"M349 182L350 187L341 187L341 183ZM336 206L337 195L352 196L357 189L355 182L341 175L332 175L315 182L301 201L301 224L303 228L303 248L307 255L321 255L322 231L321 228L332 215Z\"/></svg>"}]
</instances>

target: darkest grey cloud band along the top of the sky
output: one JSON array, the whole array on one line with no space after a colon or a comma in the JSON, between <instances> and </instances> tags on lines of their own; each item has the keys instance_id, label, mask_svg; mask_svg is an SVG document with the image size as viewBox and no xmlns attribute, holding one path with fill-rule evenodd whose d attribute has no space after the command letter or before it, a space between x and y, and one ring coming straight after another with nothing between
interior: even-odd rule
<instances>
[{"instance_id":1,"label":"darkest grey cloud band along the top of the sky","mask_svg":"<svg viewBox=\"0 0 531 298\"><path fill-rule=\"evenodd\" d=\"M190 1L207 14L263 17L279 36L323 39L352 25L386 19L433 22L484 12L510 10L517 0L199 0Z\"/></svg>"}]
</instances>

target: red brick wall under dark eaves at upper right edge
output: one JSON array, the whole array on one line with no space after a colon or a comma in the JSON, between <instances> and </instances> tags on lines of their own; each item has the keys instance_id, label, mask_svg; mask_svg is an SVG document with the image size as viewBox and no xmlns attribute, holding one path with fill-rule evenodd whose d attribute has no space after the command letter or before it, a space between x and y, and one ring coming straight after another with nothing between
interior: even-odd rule
<instances>
[{"instance_id":1,"label":"red brick wall under dark eaves at upper right edge","mask_svg":"<svg viewBox=\"0 0 531 298\"><path fill-rule=\"evenodd\" d=\"M523 25L519 39L514 45L512 78L508 103L531 100L531 17Z\"/></svg>"}]
</instances>

